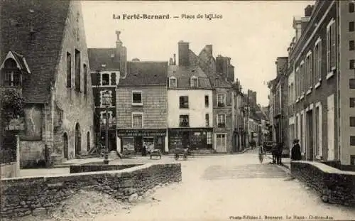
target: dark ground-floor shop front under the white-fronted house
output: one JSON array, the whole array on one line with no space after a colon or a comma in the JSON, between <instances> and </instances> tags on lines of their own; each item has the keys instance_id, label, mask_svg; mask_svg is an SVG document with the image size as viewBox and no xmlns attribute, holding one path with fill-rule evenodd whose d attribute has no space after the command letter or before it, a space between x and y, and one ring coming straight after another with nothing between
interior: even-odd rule
<instances>
[{"instance_id":1,"label":"dark ground-floor shop front under the white-fronted house","mask_svg":"<svg viewBox=\"0 0 355 221\"><path fill-rule=\"evenodd\" d=\"M170 128L168 129L168 148L191 150L213 149L213 128Z\"/></svg>"}]
</instances>

